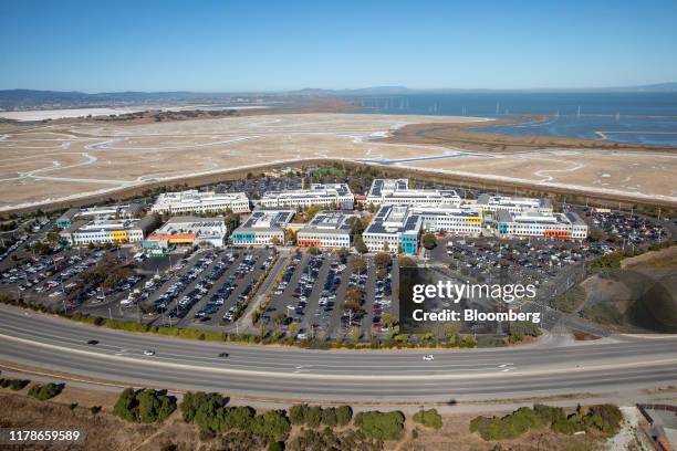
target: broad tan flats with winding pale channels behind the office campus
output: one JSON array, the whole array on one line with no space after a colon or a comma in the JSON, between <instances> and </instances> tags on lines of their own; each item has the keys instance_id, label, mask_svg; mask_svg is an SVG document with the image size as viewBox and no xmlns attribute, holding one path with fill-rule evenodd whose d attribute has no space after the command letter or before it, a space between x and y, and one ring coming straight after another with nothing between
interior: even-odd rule
<instances>
[{"instance_id":1,"label":"broad tan flats with winding pale channels behind the office campus","mask_svg":"<svg viewBox=\"0 0 677 451\"><path fill-rule=\"evenodd\" d=\"M310 158L367 160L677 202L677 155L670 153L539 147L467 151L448 144L379 139L412 124L478 120L485 119L311 113L129 125L3 125L0 211Z\"/></svg>"}]
</instances>

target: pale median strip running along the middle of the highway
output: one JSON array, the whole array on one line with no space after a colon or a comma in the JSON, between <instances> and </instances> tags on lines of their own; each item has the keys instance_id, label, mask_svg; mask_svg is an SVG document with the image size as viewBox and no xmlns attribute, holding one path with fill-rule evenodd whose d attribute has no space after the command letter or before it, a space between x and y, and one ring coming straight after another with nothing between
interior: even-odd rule
<instances>
[{"instance_id":1,"label":"pale median strip running along the middle of the highway","mask_svg":"<svg viewBox=\"0 0 677 451\"><path fill-rule=\"evenodd\" d=\"M44 347L48 349L56 349L59 352L62 353L71 353L71 354L80 354L80 355L85 355L85 356L90 356L90 357L100 357L100 358L105 358L105 359L113 359L113 360L121 360L121 361L127 361L131 364L140 364L140 365L147 365L147 366L158 366L158 367L168 367L168 368L183 368L183 369L187 369L187 370L197 370L197 371L208 371L208 373L222 373L222 374L235 374L235 375L246 375L246 376L262 376L262 377L271 377L271 376L279 376L279 377L299 377L299 378L305 378L305 379L322 379L322 380L326 380L326 379L336 379L336 380L374 380L374 379L378 379L378 380L420 380L421 376L420 375L332 375L332 374L304 374L304 373L298 373L298 374L290 374L290 373L281 373L281 371L263 371L263 370L250 370L250 369L235 369L235 368L217 368L217 367L205 367L205 366L195 366L195 365L186 365L186 364L178 364L178 363L165 363L165 361L159 361L157 359L138 359L138 358L132 358L132 357L123 357L123 356L113 356L113 355L108 355L108 354L101 354L101 353L93 353L93 352L88 352L88 350L82 350L82 349L70 349L70 348L64 348L62 346L56 346L56 345L50 345L50 344L45 344L45 343L38 343L38 342L33 342L30 339L24 339L24 338L19 338L19 337L13 337L13 336L9 336L9 335L4 335L4 334L0 334L0 338L4 338L8 340L12 340L12 342L18 342L18 343L23 343L23 344L28 344L28 345L32 345L32 346L39 346L39 347ZM1 352L1 348L0 348ZM604 370L604 369L618 369L618 368L636 368L636 367L646 367L646 366L659 366L659 365L668 365L668 364L677 364L677 357L676 358L669 358L669 359L662 359L662 360L649 360L649 361L633 361L633 363L626 363L626 364L610 364L610 365L596 365L596 366L590 366L586 367L585 369L583 368L575 368L575 373L590 373L590 371L595 371L595 370ZM553 368L553 369L540 369L540 370L521 370L521 371L511 371L506 374L506 377L520 377L520 376L533 376L533 375L552 375L552 374L559 374L561 375L563 371L565 371L565 369L562 368ZM473 378L496 378L497 375L494 373L480 373L480 374L473 374L471 375ZM459 380L459 379L467 379L468 375L461 375L461 374L447 374L447 375L439 375L439 374L430 374L430 375L426 375L425 378L427 380Z\"/></svg>"}]
</instances>

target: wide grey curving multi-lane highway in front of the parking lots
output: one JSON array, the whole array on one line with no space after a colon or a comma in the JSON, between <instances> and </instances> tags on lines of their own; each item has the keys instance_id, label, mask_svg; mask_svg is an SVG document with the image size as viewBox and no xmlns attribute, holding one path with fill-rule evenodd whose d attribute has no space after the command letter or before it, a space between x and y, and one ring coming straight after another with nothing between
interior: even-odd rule
<instances>
[{"instance_id":1,"label":"wide grey curving multi-lane highway in front of the parking lots","mask_svg":"<svg viewBox=\"0 0 677 451\"><path fill-rule=\"evenodd\" d=\"M98 340L88 345L87 340ZM154 356L144 355L152 349ZM228 357L219 357L228 353ZM433 361L423 356L433 354ZM0 360L169 389L338 401L614 392L677 382L677 337L471 350L309 350L129 334L0 306Z\"/></svg>"}]
</instances>

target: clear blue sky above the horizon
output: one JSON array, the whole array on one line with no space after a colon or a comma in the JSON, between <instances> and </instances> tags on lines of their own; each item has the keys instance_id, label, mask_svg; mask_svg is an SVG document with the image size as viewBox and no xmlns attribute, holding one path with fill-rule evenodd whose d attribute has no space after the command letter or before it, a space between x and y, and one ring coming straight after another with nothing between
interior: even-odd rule
<instances>
[{"instance_id":1,"label":"clear blue sky above the horizon","mask_svg":"<svg viewBox=\"0 0 677 451\"><path fill-rule=\"evenodd\" d=\"M677 81L677 1L0 1L0 88Z\"/></svg>"}]
</instances>

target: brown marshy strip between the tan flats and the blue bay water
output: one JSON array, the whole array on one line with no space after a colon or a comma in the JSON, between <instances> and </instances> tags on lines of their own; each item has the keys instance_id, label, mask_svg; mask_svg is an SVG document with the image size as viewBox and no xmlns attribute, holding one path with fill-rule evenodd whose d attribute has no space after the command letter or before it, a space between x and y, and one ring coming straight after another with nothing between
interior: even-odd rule
<instances>
[{"instance_id":1,"label":"brown marshy strip between the tan flats and the blue bay water","mask_svg":"<svg viewBox=\"0 0 677 451\"><path fill-rule=\"evenodd\" d=\"M545 120L546 116L530 116L521 119L498 119L491 123L465 124L412 124L406 125L393 136L379 139L383 143L433 144L437 146L462 147L467 150L512 153L549 147L572 149L623 149L629 151L675 153L675 147L636 146L597 139L561 138L553 136L507 136L492 133L472 132L472 128L488 125L513 125L524 122Z\"/></svg>"}]
</instances>

